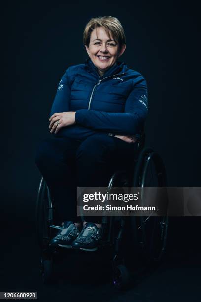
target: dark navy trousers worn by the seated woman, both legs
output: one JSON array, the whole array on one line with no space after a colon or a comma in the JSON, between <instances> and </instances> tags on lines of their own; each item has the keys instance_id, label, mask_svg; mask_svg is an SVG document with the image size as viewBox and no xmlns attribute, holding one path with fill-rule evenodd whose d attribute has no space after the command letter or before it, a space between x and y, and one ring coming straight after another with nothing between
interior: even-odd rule
<instances>
[{"instance_id":1,"label":"dark navy trousers worn by the seated woman, both legs","mask_svg":"<svg viewBox=\"0 0 201 302\"><path fill-rule=\"evenodd\" d=\"M42 141L36 165L53 199L57 222L80 222L77 217L77 187L107 187L112 174L130 165L136 143L127 143L106 133L84 141L54 136ZM101 217L86 217L101 223Z\"/></svg>"}]
</instances>

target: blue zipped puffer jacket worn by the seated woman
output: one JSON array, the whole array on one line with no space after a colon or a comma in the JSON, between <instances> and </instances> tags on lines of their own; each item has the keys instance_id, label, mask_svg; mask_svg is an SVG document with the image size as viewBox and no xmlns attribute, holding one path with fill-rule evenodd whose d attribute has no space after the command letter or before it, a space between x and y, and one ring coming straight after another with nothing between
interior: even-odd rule
<instances>
[{"instance_id":1,"label":"blue zipped puffer jacket worn by the seated woman","mask_svg":"<svg viewBox=\"0 0 201 302\"><path fill-rule=\"evenodd\" d=\"M88 58L69 67L59 83L50 115L65 111L76 111L76 124L56 136L82 140L97 132L138 135L147 115L146 81L118 61L100 77Z\"/></svg>"}]
</instances>

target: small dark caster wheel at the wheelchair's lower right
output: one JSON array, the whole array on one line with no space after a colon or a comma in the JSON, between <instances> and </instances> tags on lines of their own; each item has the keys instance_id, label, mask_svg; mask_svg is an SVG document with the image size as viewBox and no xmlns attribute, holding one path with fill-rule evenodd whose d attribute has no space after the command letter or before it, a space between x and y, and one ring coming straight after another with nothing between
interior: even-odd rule
<instances>
[{"instance_id":1,"label":"small dark caster wheel at the wheelchair's lower right","mask_svg":"<svg viewBox=\"0 0 201 302\"><path fill-rule=\"evenodd\" d=\"M113 276L113 283L114 286L122 290L124 289L129 282L129 272L126 266L118 265L115 269L114 276Z\"/></svg>"}]
</instances>

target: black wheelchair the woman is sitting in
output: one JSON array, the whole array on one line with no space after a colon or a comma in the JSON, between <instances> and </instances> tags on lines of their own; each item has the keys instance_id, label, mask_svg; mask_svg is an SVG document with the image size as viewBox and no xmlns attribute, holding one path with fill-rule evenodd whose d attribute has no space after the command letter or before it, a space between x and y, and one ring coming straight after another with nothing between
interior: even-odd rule
<instances>
[{"instance_id":1,"label":"black wheelchair the woman is sitting in","mask_svg":"<svg viewBox=\"0 0 201 302\"><path fill-rule=\"evenodd\" d=\"M110 178L108 191L113 187L140 187L146 186L167 187L165 166L160 155L151 148L144 147L145 135L141 135L137 142L137 150L131 167L127 170L116 171ZM166 199L166 212L163 216L132 216L132 217L102 217L103 238L100 248L109 248L111 251L112 279L115 288L121 290L127 287L130 280L130 272L126 264L127 252L125 242L125 230L129 228L130 253L133 251L144 260L156 263L162 260L168 229L168 195ZM59 229L54 220L54 204L50 191L43 177L41 178L37 203L36 203L36 234L41 250L41 275L44 284L53 280L54 253L48 247L53 237L54 229ZM55 234L54 234L55 236ZM85 252L86 253L86 252ZM88 252L89 253L89 252ZM130 256L129 256L130 257ZM132 257L132 255L131 255Z\"/></svg>"}]
</instances>

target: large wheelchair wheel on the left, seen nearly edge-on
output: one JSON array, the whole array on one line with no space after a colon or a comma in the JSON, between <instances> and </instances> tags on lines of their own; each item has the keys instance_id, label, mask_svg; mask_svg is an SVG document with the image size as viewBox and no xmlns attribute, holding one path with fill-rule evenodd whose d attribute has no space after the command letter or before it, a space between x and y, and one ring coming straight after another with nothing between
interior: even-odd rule
<instances>
[{"instance_id":1,"label":"large wheelchair wheel on the left, seen nearly edge-on","mask_svg":"<svg viewBox=\"0 0 201 302\"><path fill-rule=\"evenodd\" d=\"M41 178L36 203L36 234L41 250L47 248L50 239L50 225L53 219L53 208L49 189Z\"/></svg>"}]
</instances>

